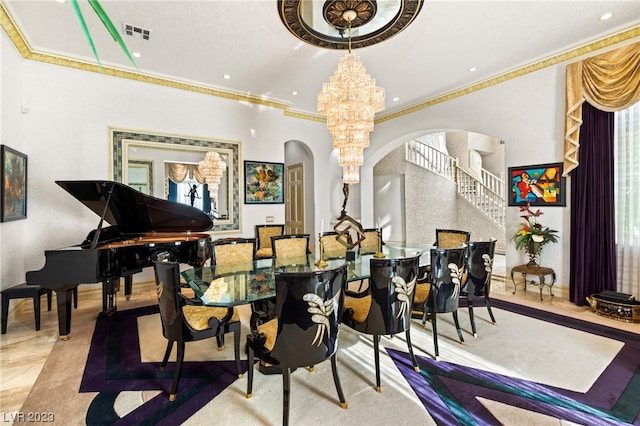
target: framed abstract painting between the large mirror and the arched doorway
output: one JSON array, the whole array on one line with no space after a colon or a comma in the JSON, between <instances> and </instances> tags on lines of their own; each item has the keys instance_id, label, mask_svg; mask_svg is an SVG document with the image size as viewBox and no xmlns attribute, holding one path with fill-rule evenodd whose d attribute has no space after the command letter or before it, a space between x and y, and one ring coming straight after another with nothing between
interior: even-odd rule
<instances>
[{"instance_id":1,"label":"framed abstract painting between the large mirror and the arched doorway","mask_svg":"<svg viewBox=\"0 0 640 426\"><path fill-rule=\"evenodd\" d=\"M244 203L283 204L284 164L244 162Z\"/></svg>"}]
</instances>

